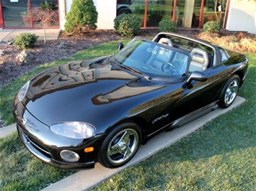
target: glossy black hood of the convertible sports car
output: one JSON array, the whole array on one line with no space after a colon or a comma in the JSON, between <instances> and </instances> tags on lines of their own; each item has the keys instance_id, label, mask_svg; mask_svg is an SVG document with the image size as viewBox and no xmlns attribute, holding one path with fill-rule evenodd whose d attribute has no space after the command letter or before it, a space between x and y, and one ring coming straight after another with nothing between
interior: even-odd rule
<instances>
[{"instance_id":1,"label":"glossy black hood of the convertible sports car","mask_svg":"<svg viewBox=\"0 0 256 191\"><path fill-rule=\"evenodd\" d=\"M71 62L35 76L23 101L27 110L48 126L63 121L106 126L162 88L112 65L90 63Z\"/></svg>"}]
</instances>

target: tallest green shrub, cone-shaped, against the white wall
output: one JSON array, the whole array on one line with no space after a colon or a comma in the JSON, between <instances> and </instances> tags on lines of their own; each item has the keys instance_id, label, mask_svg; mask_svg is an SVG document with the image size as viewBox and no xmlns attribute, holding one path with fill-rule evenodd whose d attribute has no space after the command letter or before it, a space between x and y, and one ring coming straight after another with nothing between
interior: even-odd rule
<instances>
[{"instance_id":1,"label":"tallest green shrub, cone-shaped, against the white wall","mask_svg":"<svg viewBox=\"0 0 256 191\"><path fill-rule=\"evenodd\" d=\"M65 32L74 33L81 32L82 29L96 29L97 19L98 13L92 0L73 0L71 9L66 15Z\"/></svg>"}]
</instances>

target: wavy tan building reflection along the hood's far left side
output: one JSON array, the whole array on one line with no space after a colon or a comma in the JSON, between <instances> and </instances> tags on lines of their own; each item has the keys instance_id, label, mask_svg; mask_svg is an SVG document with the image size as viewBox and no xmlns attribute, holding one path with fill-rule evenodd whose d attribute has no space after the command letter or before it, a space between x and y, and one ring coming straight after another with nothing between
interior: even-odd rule
<instances>
[{"instance_id":1,"label":"wavy tan building reflection along the hood's far left side","mask_svg":"<svg viewBox=\"0 0 256 191\"><path fill-rule=\"evenodd\" d=\"M88 83L97 83L97 80L128 80L134 78L133 75L116 70L112 65L90 68L89 64L88 60L70 62L40 73L40 75L35 76L31 80L27 98L35 100L57 90L75 88Z\"/></svg>"}]
</instances>

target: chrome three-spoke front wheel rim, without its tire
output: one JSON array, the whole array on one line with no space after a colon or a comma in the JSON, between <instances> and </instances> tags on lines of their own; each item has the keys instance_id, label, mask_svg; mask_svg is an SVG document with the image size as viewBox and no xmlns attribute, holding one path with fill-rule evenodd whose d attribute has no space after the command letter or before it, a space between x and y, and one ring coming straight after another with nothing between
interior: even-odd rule
<instances>
[{"instance_id":1,"label":"chrome three-spoke front wheel rim, without its tire","mask_svg":"<svg viewBox=\"0 0 256 191\"><path fill-rule=\"evenodd\" d=\"M107 146L107 160L111 164L122 164L133 157L138 148L138 133L133 129L123 129Z\"/></svg>"}]
</instances>

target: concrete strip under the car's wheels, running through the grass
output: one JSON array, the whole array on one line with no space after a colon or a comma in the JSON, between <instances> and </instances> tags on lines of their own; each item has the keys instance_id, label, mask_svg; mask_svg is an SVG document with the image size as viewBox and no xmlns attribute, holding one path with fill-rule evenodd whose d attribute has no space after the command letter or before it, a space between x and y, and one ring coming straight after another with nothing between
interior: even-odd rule
<instances>
[{"instance_id":1,"label":"concrete strip under the car's wheels, running through the grass","mask_svg":"<svg viewBox=\"0 0 256 191\"><path fill-rule=\"evenodd\" d=\"M156 152L174 144L176 141L182 139L188 134L193 133L200 127L204 126L209 121L214 118L221 116L222 114L231 111L233 108L240 106L244 103L245 99L241 97L237 97L234 103L226 109L217 108L215 111L208 113L206 116L200 117L195 121L190 122L190 124L186 124L178 129L173 131L163 132L153 139L150 139L145 145L141 145L137 154L131 162L128 162L123 167L118 169L107 169L102 167L100 164L96 164L94 169L88 169L76 172L69 177L64 178L48 187L45 187L42 191L52 191L52 190L89 190L93 187L96 187L98 184L107 180L107 178L113 176L114 174L123 171L126 167L133 166L134 164L138 164L149 157L151 157Z\"/></svg>"}]
</instances>

